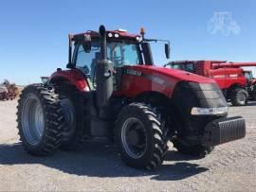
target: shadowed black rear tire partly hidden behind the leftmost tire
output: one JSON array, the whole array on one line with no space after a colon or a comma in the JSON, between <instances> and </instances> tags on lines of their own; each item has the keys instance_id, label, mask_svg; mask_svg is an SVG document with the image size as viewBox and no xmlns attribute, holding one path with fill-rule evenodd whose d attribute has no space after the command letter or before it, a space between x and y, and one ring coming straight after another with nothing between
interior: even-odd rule
<instances>
[{"instance_id":1,"label":"shadowed black rear tire partly hidden behind the leftmost tire","mask_svg":"<svg viewBox=\"0 0 256 192\"><path fill-rule=\"evenodd\" d=\"M56 86L56 92L60 95L61 103L63 106L63 100L68 99L74 108L73 117L74 125L70 124L66 118L64 111L65 126L64 137L61 145L61 149L74 150L82 147L84 140L84 131L86 128L86 111L85 111L85 98L81 92L79 92L75 86L64 84ZM64 106L63 106L64 107ZM69 128L68 128L69 127ZM67 131L69 132L69 135Z\"/></svg>"}]
</instances>

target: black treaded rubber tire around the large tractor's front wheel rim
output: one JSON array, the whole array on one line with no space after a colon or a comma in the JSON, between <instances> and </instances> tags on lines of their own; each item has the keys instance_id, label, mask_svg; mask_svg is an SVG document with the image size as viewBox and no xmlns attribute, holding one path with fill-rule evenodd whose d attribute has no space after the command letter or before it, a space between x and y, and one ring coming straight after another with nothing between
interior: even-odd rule
<instances>
[{"instance_id":1,"label":"black treaded rubber tire around the large tractor's front wheel rim","mask_svg":"<svg viewBox=\"0 0 256 192\"><path fill-rule=\"evenodd\" d=\"M126 128L125 122L131 119L137 119L141 123L146 137L142 138L145 139L146 147L137 157L133 157L131 152L129 154L126 148L127 145L122 139L122 131ZM168 150L167 128L164 126L163 119L161 119L161 113L157 113L154 108L143 103L131 103L125 106L119 113L115 135L120 157L127 166L149 170L155 169L162 164ZM128 140L127 137L125 134L125 140Z\"/></svg>"}]
</instances>

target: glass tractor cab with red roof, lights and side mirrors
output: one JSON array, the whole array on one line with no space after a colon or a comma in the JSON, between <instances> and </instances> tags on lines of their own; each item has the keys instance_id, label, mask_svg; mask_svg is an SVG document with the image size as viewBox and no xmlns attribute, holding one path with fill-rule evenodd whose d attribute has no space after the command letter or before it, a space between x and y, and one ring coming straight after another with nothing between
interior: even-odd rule
<instances>
[{"instance_id":1,"label":"glass tractor cab with red roof, lights and side mirrors","mask_svg":"<svg viewBox=\"0 0 256 192\"><path fill-rule=\"evenodd\" d=\"M150 42L165 42L166 57L170 57L169 41L153 40L144 38L144 29L140 29L140 35L129 34L126 30L117 29L105 31L106 36L106 60L111 61L114 69L124 65L154 65ZM101 60L100 34L96 31L69 35L69 49L74 51L69 53L67 68L77 68L95 86L97 61Z\"/></svg>"}]
</instances>

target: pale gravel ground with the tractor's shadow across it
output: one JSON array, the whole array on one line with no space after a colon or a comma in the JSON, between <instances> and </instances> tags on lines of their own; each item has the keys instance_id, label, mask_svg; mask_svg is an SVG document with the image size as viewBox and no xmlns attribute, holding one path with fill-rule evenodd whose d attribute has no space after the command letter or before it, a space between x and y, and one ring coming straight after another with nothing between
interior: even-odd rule
<instances>
[{"instance_id":1,"label":"pale gravel ground with the tractor's shadow across it","mask_svg":"<svg viewBox=\"0 0 256 192\"><path fill-rule=\"evenodd\" d=\"M230 107L243 115L247 137L216 147L196 160L172 148L163 166L141 171L124 166L112 144L32 157L16 130L16 101L0 101L0 191L256 191L256 103Z\"/></svg>"}]
</instances>

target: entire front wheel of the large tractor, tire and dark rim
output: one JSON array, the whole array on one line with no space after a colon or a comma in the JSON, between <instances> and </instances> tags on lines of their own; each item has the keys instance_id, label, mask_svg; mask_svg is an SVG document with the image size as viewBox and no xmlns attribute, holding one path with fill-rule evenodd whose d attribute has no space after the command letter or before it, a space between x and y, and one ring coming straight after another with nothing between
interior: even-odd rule
<instances>
[{"instance_id":1,"label":"entire front wheel of the large tractor, tire and dark rim","mask_svg":"<svg viewBox=\"0 0 256 192\"><path fill-rule=\"evenodd\" d=\"M119 113L116 141L127 166L155 169L163 162L167 147L167 128L161 113L143 103L132 103Z\"/></svg>"}]
</instances>

